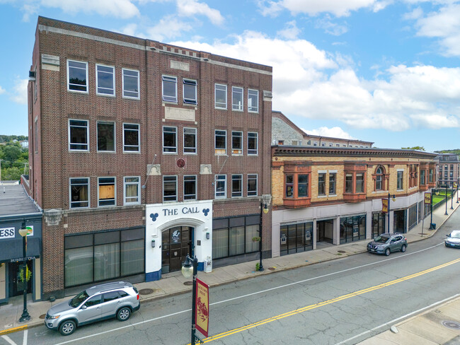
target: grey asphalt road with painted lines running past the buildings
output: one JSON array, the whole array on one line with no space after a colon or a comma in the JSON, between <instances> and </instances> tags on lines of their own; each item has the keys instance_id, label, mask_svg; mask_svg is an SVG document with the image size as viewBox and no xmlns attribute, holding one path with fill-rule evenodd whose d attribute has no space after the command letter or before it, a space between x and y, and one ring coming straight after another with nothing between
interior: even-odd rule
<instances>
[{"instance_id":1,"label":"grey asphalt road with painted lines running past the buildings","mask_svg":"<svg viewBox=\"0 0 460 345\"><path fill-rule=\"evenodd\" d=\"M455 212L406 253L364 253L212 288L205 343L356 344L383 332L460 293L460 250L444 247L459 223ZM1 337L0 345L190 344L191 300L188 293L144 303L127 322L91 324L69 337L35 327Z\"/></svg>"}]
</instances>

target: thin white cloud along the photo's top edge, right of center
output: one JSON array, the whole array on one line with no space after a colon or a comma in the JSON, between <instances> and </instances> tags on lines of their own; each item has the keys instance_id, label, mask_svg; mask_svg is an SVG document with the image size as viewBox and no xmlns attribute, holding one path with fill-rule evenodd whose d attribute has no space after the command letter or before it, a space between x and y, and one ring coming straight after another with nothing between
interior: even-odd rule
<instances>
[{"instance_id":1,"label":"thin white cloud along the photo's top edge, right of center","mask_svg":"<svg viewBox=\"0 0 460 345\"><path fill-rule=\"evenodd\" d=\"M377 0L280 0L259 1L259 7L264 16L276 16L282 9L297 13L306 13L316 16L318 13L331 13L336 17L349 16L351 11L360 8L370 8L372 11L380 11L391 1Z\"/></svg>"}]
</instances>

